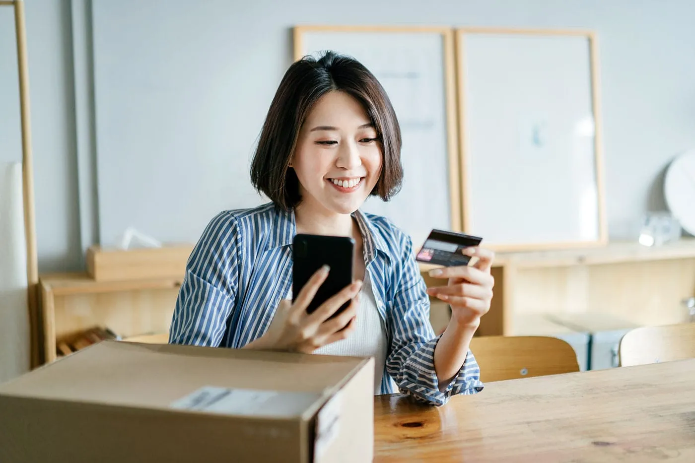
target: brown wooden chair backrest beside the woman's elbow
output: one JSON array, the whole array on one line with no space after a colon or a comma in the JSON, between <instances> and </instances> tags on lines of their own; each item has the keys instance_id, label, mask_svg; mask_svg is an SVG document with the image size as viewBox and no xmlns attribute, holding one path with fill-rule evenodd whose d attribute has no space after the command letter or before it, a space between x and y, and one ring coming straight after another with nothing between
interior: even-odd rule
<instances>
[{"instance_id":1,"label":"brown wooden chair backrest beside the woman's elbow","mask_svg":"<svg viewBox=\"0 0 695 463\"><path fill-rule=\"evenodd\" d=\"M579 371L572 346L550 336L477 336L471 352L482 382Z\"/></svg>"}]
</instances>

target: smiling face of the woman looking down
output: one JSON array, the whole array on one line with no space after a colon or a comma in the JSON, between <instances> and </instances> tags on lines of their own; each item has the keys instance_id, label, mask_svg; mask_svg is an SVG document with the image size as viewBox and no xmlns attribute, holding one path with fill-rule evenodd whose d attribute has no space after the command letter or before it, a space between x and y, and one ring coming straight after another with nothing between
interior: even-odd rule
<instances>
[{"instance_id":1,"label":"smiling face of the woman looking down","mask_svg":"<svg viewBox=\"0 0 695 463\"><path fill-rule=\"evenodd\" d=\"M382 158L377 131L357 99L338 91L323 95L300 129L291 163L302 209L353 213L377 183Z\"/></svg>"}]
</instances>

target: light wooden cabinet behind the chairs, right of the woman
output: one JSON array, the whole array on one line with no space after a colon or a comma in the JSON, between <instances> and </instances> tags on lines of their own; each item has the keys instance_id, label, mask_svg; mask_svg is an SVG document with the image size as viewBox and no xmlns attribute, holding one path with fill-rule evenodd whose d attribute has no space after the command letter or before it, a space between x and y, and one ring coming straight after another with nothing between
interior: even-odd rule
<instances>
[{"instance_id":1,"label":"light wooden cabinet behind the chairs, right of the woman","mask_svg":"<svg viewBox=\"0 0 695 463\"><path fill-rule=\"evenodd\" d=\"M427 276L428 286L441 284ZM495 295L479 334L512 335L537 314L610 314L636 325L685 320L681 301L695 295L695 239L660 247L605 247L498 254ZM528 325L528 324L525 324ZM528 326L525 326L528 332Z\"/></svg>"}]
</instances>

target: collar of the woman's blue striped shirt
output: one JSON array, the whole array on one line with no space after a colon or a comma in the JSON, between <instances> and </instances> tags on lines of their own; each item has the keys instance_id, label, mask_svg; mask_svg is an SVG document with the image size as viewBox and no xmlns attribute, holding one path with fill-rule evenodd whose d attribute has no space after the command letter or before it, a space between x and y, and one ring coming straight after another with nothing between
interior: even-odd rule
<instances>
[{"instance_id":1,"label":"collar of the woman's blue striped shirt","mask_svg":"<svg viewBox=\"0 0 695 463\"><path fill-rule=\"evenodd\" d=\"M269 249L291 245L297 234L297 222L295 220L294 209L290 211L276 209L276 211L274 226L270 230L270 240L268 241ZM357 226L363 238L366 261L373 261L377 252L381 252L384 256L390 257L389 247L369 218L359 209L354 211L352 216L357 220Z\"/></svg>"}]
</instances>

